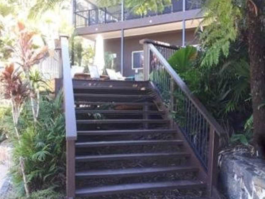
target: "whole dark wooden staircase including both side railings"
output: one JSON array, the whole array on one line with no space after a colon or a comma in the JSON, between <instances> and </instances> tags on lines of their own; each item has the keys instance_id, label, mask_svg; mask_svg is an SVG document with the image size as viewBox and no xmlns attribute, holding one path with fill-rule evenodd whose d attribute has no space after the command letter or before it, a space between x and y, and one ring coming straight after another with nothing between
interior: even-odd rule
<instances>
[{"instance_id":1,"label":"whole dark wooden staircase including both side railings","mask_svg":"<svg viewBox=\"0 0 265 199\"><path fill-rule=\"evenodd\" d=\"M68 40L60 41L67 199L165 198L156 193L169 190L174 199L187 190L219 199L224 131L168 64L178 47L140 41L143 82L72 80Z\"/></svg>"}]
</instances>

